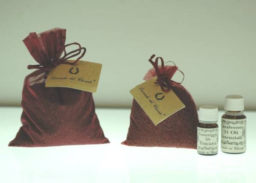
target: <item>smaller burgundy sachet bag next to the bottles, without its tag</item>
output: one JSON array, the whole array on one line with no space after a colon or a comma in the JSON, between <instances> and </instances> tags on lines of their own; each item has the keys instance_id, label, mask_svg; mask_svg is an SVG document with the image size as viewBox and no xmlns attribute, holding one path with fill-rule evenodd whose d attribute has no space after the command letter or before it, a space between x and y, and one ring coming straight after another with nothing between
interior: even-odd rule
<instances>
[{"instance_id":1,"label":"smaller burgundy sachet bag next to the bottles, without its tag","mask_svg":"<svg viewBox=\"0 0 256 183\"><path fill-rule=\"evenodd\" d=\"M195 102L189 92L180 83L172 80L172 76L178 68L171 65L164 66L163 58L161 57L157 57L154 62L152 61L154 56L152 55L149 59L154 68L148 71L144 80L149 80L157 76L157 83L163 92L173 90L186 107L178 110L158 125L154 125L142 107L133 99L130 127L128 129L127 139L122 144L130 146L196 149L198 113ZM158 66L158 59L162 62L161 67ZM169 105L172 105L172 103L170 102Z\"/></svg>"}]
</instances>

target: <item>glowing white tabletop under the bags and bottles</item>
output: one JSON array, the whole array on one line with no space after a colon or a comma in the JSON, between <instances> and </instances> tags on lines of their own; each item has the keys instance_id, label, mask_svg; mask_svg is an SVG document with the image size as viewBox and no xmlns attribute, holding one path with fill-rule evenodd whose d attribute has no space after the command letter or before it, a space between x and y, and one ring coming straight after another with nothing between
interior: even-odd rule
<instances>
[{"instance_id":1,"label":"glowing white tabletop under the bags and bottles","mask_svg":"<svg viewBox=\"0 0 256 183\"><path fill-rule=\"evenodd\" d=\"M20 107L0 107L0 183L256 182L256 112L245 112L246 153L225 154L219 146L216 156L201 156L195 149L121 145L129 109L96 109L110 144L8 147L21 126L21 112Z\"/></svg>"}]
</instances>

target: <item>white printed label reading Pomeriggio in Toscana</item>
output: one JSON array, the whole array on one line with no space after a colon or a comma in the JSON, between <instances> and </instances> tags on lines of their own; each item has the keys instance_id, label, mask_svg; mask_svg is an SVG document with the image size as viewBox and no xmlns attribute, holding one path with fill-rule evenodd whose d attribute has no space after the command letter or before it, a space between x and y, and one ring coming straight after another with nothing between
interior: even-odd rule
<instances>
[{"instance_id":1,"label":"white printed label reading Pomeriggio in Toscana","mask_svg":"<svg viewBox=\"0 0 256 183\"><path fill-rule=\"evenodd\" d=\"M198 127L197 151L200 154L218 153L218 128Z\"/></svg>"}]
</instances>

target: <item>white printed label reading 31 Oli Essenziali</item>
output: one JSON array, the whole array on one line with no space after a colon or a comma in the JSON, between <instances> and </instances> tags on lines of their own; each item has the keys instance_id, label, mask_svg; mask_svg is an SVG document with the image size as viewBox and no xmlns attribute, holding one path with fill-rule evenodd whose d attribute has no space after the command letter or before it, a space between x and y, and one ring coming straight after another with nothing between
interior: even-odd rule
<instances>
[{"instance_id":1,"label":"white printed label reading 31 Oli Essenziali","mask_svg":"<svg viewBox=\"0 0 256 183\"><path fill-rule=\"evenodd\" d=\"M221 119L221 151L246 151L246 119Z\"/></svg>"}]
</instances>

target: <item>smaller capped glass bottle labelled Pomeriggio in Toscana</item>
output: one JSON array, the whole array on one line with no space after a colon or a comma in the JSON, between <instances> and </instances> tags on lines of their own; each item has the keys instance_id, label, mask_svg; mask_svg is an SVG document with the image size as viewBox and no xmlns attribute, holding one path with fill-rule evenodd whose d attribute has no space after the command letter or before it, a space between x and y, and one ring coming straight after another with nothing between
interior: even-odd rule
<instances>
[{"instance_id":1,"label":"smaller capped glass bottle labelled Pomeriggio in Toscana","mask_svg":"<svg viewBox=\"0 0 256 183\"><path fill-rule=\"evenodd\" d=\"M201 155L218 154L218 107L199 107L197 151Z\"/></svg>"}]
</instances>

